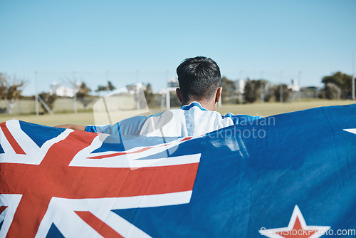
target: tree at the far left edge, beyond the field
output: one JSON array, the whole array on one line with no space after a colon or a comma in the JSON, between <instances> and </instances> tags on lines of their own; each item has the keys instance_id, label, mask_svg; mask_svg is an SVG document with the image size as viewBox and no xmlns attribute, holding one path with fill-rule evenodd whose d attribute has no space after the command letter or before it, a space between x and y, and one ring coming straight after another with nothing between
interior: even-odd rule
<instances>
[{"instance_id":1,"label":"tree at the far left edge, beyond the field","mask_svg":"<svg viewBox=\"0 0 356 238\"><path fill-rule=\"evenodd\" d=\"M19 78L10 78L0 73L0 98L4 99L9 108L9 114L13 113L16 102L21 98L22 88L26 81Z\"/></svg>"}]
</instances>

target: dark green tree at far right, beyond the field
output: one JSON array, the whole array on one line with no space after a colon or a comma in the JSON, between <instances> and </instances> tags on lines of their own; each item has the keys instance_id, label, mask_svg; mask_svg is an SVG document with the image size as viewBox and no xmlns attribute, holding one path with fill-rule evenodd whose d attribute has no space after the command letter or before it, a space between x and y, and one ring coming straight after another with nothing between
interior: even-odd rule
<instances>
[{"instance_id":1,"label":"dark green tree at far right, beyond the field","mask_svg":"<svg viewBox=\"0 0 356 238\"><path fill-rule=\"evenodd\" d=\"M350 98L352 95L352 76L339 71L334 73L332 76L325 76L322 82L325 84L325 88L328 83L333 83L335 86L340 88L340 97L343 99Z\"/></svg>"}]
</instances>

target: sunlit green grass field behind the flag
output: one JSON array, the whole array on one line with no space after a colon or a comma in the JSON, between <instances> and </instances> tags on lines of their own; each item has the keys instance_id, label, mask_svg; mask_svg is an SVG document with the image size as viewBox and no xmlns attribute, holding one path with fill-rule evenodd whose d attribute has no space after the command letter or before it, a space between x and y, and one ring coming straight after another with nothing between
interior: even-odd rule
<instances>
[{"instance_id":1,"label":"sunlit green grass field behind the flag","mask_svg":"<svg viewBox=\"0 0 356 238\"><path fill-rule=\"evenodd\" d=\"M348 105L355 103L352 100L308 100L295 103L253 103L244 105L222 105L218 108L222 115L226 113L246 114L246 115L276 115L281 113L289 113L297 110L305 110L308 108L317 108L328 105ZM159 110L152 110L152 113L157 113ZM135 114L127 114L120 120ZM74 113L58 113L55 115L0 115L0 121L17 119L24 120L30 123L41 125L61 125L61 124L78 124L78 125L93 125L93 111Z\"/></svg>"}]
</instances>

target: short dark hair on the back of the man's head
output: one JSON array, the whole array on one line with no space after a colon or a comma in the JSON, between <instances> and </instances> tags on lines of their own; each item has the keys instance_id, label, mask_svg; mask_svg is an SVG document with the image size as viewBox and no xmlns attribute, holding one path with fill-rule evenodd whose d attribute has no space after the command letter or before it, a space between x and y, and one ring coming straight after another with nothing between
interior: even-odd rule
<instances>
[{"instance_id":1,"label":"short dark hair on the back of the man's head","mask_svg":"<svg viewBox=\"0 0 356 238\"><path fill-rule=\"evenodd\" d=\"M209 100L221 83L220 68L211 58L186 58L177 67L183 100Z\"/></svg>"}]
</instances>

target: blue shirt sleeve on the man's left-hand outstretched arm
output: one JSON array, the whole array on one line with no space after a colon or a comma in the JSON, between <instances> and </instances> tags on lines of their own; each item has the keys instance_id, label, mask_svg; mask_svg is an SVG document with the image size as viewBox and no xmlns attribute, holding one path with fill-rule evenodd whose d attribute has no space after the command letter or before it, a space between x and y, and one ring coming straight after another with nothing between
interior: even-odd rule
<instances>
[{"instance_id":1,"label":"blue shirt sleeve on the man's left-hand outstretched arm","mask_svg":"<svg viewBox=\"0 0 356 238\"><path fill-rule=\"evenodd\" d=\"M138 115L122 120L120 123L115 123L114 125L87 125L85 131L112 135L140 135L141 125L146 119L146 116Z\"/></svg>"}]
</instances>

